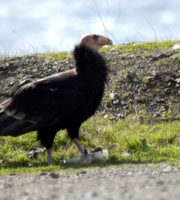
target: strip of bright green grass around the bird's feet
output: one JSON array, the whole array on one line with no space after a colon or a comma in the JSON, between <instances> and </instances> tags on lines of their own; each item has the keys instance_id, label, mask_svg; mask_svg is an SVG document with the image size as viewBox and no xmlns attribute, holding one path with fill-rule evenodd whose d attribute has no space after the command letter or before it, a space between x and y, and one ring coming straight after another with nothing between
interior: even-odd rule
<instances>
[{"instance_id":1,"label":"strip of bright green grass around the bird's feet","mask_svg":"<svg viewBox=\"0 0 180 200\"><path fill-rule=\"evenodd\" d=\"M0 174L73 171L137 163L180 164L179 122L148 125L128 120L112 121L96 115L82 125L80 140L88 150L98 146L107 149L108 160L86 166L59 164L60 160L78 154L66 132L60 131L53 146L55 165L47 167L46 152L33 159L27 156L30 147L39 146L34 132L17 138L0 137Z\"/></svg>"}]
</instances>

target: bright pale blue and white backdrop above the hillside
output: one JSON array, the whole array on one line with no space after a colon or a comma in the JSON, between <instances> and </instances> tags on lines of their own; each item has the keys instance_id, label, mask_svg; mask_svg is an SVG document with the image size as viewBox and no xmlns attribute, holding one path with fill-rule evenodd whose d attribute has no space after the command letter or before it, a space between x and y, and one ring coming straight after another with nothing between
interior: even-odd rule
<instances>
[{"instance_id":1,"label":"bright pale blue and white backdrop above the hillside","mask_svg":"<svg viewBox=\"0 0 180 200\"><path fill-rule=\"evenodd\" d=\"M89 33L180 40L179 22L180 0L0 0L0 54L69 51Z\"/></svg>"}]
</instances>

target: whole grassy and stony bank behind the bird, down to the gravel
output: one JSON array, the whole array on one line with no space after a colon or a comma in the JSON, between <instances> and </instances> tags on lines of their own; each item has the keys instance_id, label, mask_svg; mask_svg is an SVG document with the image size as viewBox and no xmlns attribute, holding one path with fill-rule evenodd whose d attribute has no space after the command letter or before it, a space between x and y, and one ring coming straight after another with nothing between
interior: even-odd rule
<instances>
[{"instance_id":1,"label":"whole grassy and stony bank behind the bird, down to the gravel","mask_svg":"<svg viewBox=\"0 0 180 200\"><path fill-rule=\"evenodd\" d=\"M101 50L110 69L109 82L99 111L81 127L80 140L88 150L107 149L107 161L87 166L59 164L78 154L66 132L60 131L53 146L55 165L47 167L45 151L36 158L27 155L31 147L40 146L33 132L0 137L0 174L136 163L180 165L180 51L171 48L176 43L180 42L132 43ZM69 52L0 62L1 100L26 79L73 68Z\"/></svg>"}]
</instances>

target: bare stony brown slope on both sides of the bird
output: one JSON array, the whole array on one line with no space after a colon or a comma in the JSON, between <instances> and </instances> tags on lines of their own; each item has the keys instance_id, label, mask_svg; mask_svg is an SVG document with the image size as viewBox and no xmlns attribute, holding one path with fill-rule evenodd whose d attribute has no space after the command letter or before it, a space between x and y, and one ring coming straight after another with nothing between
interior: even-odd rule
<instances>
[{"instance_id":1,"label":"bare stony brown slope on both sides of the bird","mask_svg":"<svg viewBox=\"0 0 180 200\"><path fill-rule=\"evenodd\" d=\"M131 52L112 49L103 55L110 69L99 108L105 115L110 113L115 119L128 114L176 118L180 111L180 49ZM19 84L73 67L71 56L63 61L54 60L48 54L1 58L0 102Z\"/></svg>"}]
</instances>

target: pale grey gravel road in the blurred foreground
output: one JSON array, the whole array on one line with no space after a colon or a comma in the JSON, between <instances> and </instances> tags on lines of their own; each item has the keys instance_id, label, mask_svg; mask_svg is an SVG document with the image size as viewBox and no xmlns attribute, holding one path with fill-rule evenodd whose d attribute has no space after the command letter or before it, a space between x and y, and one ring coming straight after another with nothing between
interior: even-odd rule
<instances>
[{"instance_id":1,"label":"pale grey gravel road in the blurred foreground","mask_svg":"<svg viewBox=\"0 0 180 200\"><path fill-rule=\"evenodd\" d=\"M179 200L180 167L137 165L39 175L0 176L1 200Z\"/></svg>"}]
</instances>

